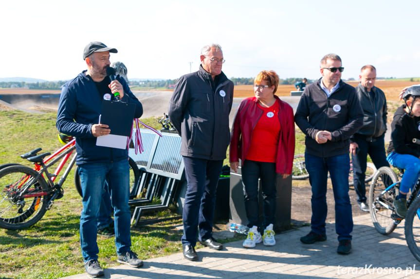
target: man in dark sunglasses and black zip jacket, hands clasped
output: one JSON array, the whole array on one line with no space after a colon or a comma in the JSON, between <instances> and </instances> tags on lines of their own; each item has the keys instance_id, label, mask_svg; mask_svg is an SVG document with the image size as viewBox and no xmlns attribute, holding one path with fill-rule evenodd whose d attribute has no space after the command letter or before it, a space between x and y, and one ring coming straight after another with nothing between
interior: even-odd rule
<instances>
[{"instance_id":1,"label":"man in dark sunglasses and black zip jacket, hands clasped","mask_svg":"<svg viewBox=\"0 0 420 279\"><path fill-rule=\"evenodd\" d=\"M311 231L301 237L305 244L327 240L327 176L331 177L335 199L337 253L351 251L353 218L348 196L350 137L363 124L363 111L353 86L341 80L344 67L333 53L321 60L322 78L306 86L294 116L305 137L305 164L312 187Z\"/></svg>"}]
</instances>

